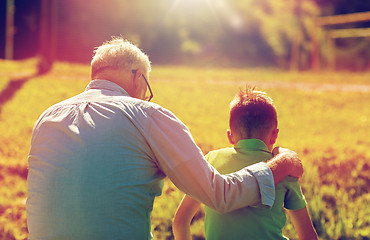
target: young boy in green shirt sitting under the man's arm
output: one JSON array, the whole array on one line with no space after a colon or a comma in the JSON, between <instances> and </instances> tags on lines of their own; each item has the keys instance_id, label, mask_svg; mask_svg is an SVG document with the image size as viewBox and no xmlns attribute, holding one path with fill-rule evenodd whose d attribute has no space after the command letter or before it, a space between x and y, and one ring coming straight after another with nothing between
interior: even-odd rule
<instances>
[{"instance_id":1,"label":"young boy in green shirt sitting under the man's arm","mask_svg":"<svg viewBox=\"0 0 370 240\"><path fill-rule=\"evenodd\" d=\"M227 135L234 148L211 151L206 159L220 173L227 174L272 157L278 136L277 114L271 98L247 87L230 104ZM298 179L287 177L275 187L272 208L259 205L219 214L205 207L205 234L214 239L287 239L282 234L288 209L299 239L317 239ZM176 240L191 239L190 223L200 203L190 196L182 200L173 222Z\"/></svg>"}]
</instances>

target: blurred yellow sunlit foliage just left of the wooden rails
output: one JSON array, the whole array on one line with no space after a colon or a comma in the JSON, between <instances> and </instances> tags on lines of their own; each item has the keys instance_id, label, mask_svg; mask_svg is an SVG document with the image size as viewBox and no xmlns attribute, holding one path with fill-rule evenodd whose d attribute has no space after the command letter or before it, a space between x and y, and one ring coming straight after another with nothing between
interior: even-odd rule
<instances>
[{"instance_id":1,"label":"blurred yellow sunlit foliage just left of the wooden rails","mask_svg":"<svg viewBox=\"0 0 370 240\"><path fill-rule=\"evenodd\" d=\"M260 2L260 1L257 1ZM284 14L282 14L284 12ZM301 44L301 54L311 51L310 41L314 19L319 16L319 9L312 1L265 1L264 7L256 8L264 39L272 48L277 63L288 67L292 59L292 45L295 41ZM284 24L282 24L284 23ZM297 59L301 62L300 59ZM309 64L306 60L305 67Z\"/></svg>"}]
</instances>

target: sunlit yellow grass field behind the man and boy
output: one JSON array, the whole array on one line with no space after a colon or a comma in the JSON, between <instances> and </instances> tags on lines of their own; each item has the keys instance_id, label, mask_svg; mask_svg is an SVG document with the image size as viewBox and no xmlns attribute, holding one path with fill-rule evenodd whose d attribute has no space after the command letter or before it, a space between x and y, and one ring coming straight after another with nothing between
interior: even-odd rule
<instances>
[{"instance_id":1,"label":"sunlit yellow grass field behind the man and boy","mask_svg":"<svg viewBox=\"0 0 370 240\"><path fill-rule=\"evenodd\" d=\"M33 74L35 62L0 61L0 92ZM83 91L89 67L57 63L24 82L0 106L0 239L27 237L27 154L33 124L50 105ZM228 106L246 83L266 91L278 109L278 145L295 150L310 215L321 239L370 239L370 73L295 73L274 69L197 69L154 66L153 101L174 112L204 153L230 146ZM155 239L172 239L182 198L169 181L152 214ZM202 239L203 214L193 222ZM288 222L285 233L295 237Z\"/></svg>"}]
</instances>

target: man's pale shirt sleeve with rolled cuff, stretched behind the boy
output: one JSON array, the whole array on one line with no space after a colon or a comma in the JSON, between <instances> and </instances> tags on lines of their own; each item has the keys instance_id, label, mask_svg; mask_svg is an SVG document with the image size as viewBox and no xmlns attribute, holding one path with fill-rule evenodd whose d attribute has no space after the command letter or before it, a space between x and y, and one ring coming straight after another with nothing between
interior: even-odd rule
<instances>
[{"instance_id":1,"label":"man's pale shirt sleeve with rolled cuff, stretched behind the boy","mask_svg":"<svg viewBox=\"0 0 370 240\"><path fill-rule=\"evenodd\" d=\"M159 168L183 192L226 213L261 203L271 206L274 180L266 164L221 175L204 158L187 127L166 109L150 115L147 139ZM261 195L260 195L261 193Z\"/></svg>"}]
</instances>

